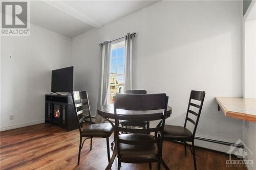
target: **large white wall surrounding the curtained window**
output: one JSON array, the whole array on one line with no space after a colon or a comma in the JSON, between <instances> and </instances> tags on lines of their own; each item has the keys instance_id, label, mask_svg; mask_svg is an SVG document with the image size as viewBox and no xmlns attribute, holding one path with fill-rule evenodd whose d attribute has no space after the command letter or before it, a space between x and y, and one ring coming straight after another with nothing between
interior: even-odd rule
<instances>
[{"instance_id":1,"label":"large white wall surrounding the curtained window","mask_svg":"<svg viewBox=\"0 0 256 170\"><path fill-rule=\"evenodd\" d=\"M196 135L236 142L242 123L218 112L215 96L241 97L241 19L239 1L162 1L83 33L72 39L74 89L88 91L95 115L99 43L136 32L135 89L167 93L173 114L166 123L172 125L184 124L190 90L205 90Z\"/></svg>"}]
</instances>

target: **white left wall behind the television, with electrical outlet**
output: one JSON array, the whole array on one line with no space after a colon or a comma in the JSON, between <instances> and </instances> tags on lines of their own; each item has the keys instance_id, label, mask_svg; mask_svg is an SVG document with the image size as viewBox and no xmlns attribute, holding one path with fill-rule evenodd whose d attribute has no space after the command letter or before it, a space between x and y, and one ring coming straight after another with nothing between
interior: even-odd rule
<instances>
[{"instance_id":1,"label":"white left wall behind the television, with electrical outlet","mask_svg":"<svg viewBox=\"0 0 256 170\"><path fill-rule=\"evenodd\" d=\"M30 30L1 37L1 130L44 123L51 70L70 66L70 38L32 24Z\"/></svg>"}]
</instances>

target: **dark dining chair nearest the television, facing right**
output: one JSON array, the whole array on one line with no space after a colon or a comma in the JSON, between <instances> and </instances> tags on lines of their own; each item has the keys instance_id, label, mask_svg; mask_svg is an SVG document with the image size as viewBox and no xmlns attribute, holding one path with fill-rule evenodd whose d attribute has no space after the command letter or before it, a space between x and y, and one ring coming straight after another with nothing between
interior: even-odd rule
<instances>
[{"instance_id":1,"label":"dark dining chair nearest the television, facing right","mask_svg":"<svg viewBox=\"0 0 256 170\"><path fill-rule=\"evenodd\" d=\"M81 149L83 147L84 141L87 139L91 139L90 151L92 150L92 139L94 137L97 138L106 138L106 149L108 153L108 160L110 161L110 144L109 137L113 132L113 127L109 123L105 124L93 124L91 117L90 104L88 99L87 91L74 91L72 93L72 99L75 108L75 114L78 121L78 128L80 133L80 143L79 143L79 153L78 153L78 161L77 165L80 162L80 154ZM84 120L89 119L90 125L86 127L82 127L82 123ZM82 142L82 138L85 138Z\"/></svg>"}]
</instances>

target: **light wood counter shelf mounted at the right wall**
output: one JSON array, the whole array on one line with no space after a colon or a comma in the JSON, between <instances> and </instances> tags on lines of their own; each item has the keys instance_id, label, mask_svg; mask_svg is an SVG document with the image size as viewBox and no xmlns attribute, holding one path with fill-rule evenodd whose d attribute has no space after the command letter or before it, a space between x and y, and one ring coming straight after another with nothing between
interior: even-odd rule
<instances>
[{"instance_id":1,"label":"light wood counter shelf mounted at the right wall","mask_svg":"<svg viewBox=\"0 0 256 170\"><path fill-rule=\"evenodd\" d=\"M256 122L256 99L216 97L225 116Z\"/></svg>"}]
</instances>

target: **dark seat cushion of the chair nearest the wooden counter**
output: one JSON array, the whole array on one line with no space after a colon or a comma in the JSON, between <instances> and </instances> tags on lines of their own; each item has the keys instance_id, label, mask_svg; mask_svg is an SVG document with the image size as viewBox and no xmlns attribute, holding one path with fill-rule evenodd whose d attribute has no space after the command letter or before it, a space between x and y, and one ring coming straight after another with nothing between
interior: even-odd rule
<instances>
[{"instance_id":1,"label":"dark seat cushion of the chair nearest the wooden counter","mask_svg":"<svg viewBox=\"0 0 256 170\"><path fill-rule=\"evenodd\" d=\"M164 126L164 139L190 139L193 134L182 126L165 125Z\"/></svg>"}]
</instances>

